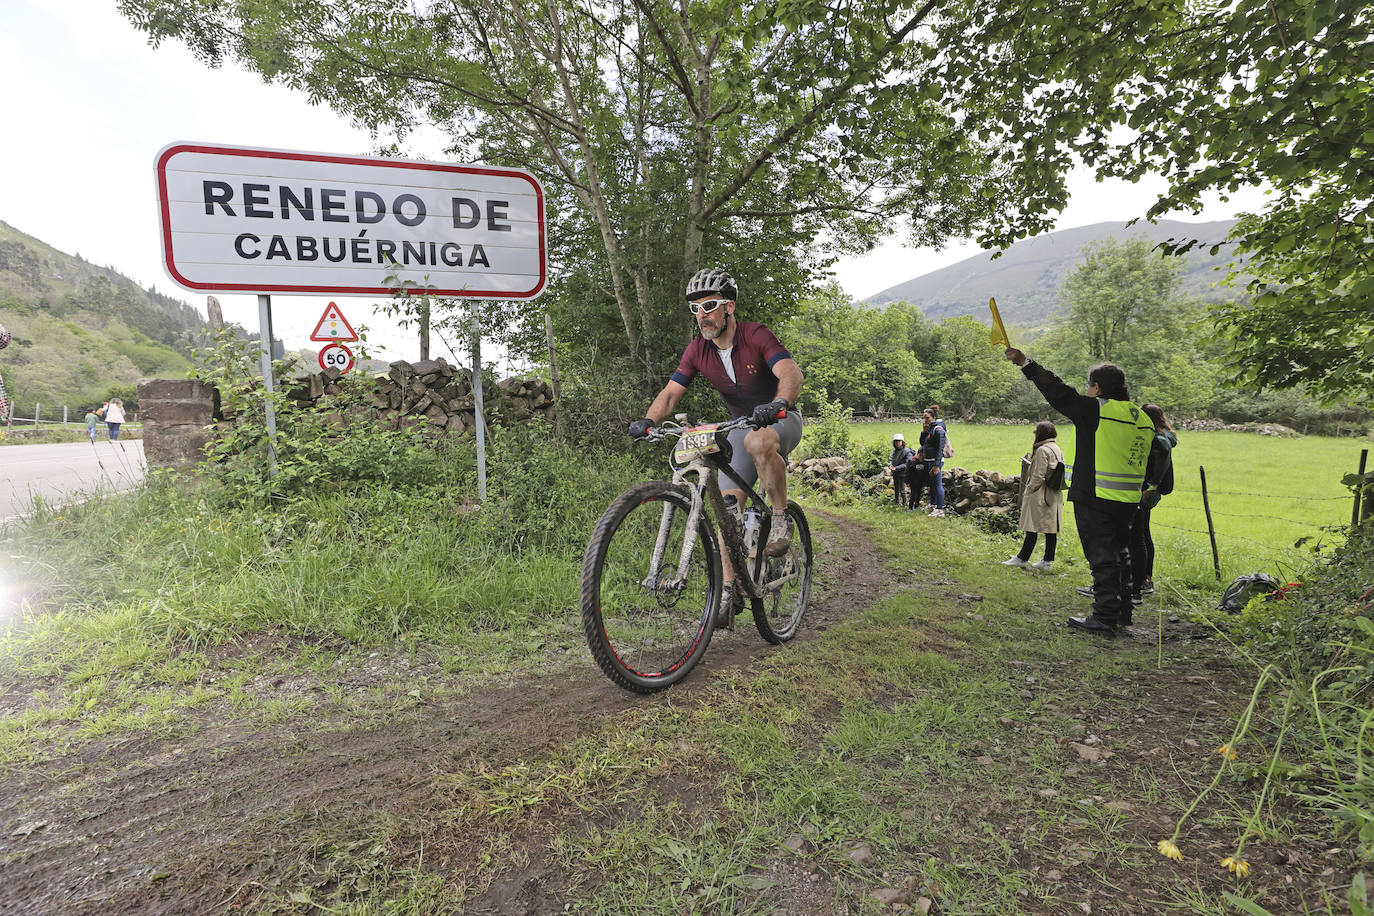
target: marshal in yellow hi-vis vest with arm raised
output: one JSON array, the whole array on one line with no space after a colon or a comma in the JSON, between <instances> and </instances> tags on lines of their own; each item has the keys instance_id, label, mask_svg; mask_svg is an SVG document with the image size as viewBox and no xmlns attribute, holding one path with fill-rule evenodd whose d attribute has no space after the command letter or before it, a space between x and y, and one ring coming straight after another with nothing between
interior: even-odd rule
<instances>
[{"instance_id":1,"label":"marshal in yellow hi-vis vest with arm raised","mask_svg":"<svg viewBox=\"0 0 1374 916\"><path fill-rule=\"evenodd\" d=\"M1021 367L1050 407L1073 422L1069 501L1083 556L1092 570L1092 614L1070 617L1068 625L1114 636L1118 628L1131 625L1124 558L1154 424L1131 402L1125 374L1116 364L1099 363L1088 369L1088 387L1080 394L1021 350L1007 347L1006 357Z\"/></svg>"}]
</instances>

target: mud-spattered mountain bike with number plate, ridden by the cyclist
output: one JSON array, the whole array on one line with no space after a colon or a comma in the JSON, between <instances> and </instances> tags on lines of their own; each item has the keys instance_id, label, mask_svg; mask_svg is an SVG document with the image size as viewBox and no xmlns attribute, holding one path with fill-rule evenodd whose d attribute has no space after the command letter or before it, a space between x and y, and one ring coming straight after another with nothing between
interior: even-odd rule
<instances>
[{"instance_id":1,"label":"mud-spattered mountain bike with number plate, ridden by the cyclist","mask_svg":"<svg viewBox=\"0 0 1374 916\"><path fill-rule=\"evenodd\" d=\"M734 628L731 608L721 607L716 526L760 636L780 644L801 628L811 597L811 526L789 500L791 547L783 556L765 555L771 508L730 467L725 434L741 426L754 423L739 417L692 426L679 415L651 428L650 441L677 439L672 481L647 481L621 493L587 542L583 629L596 663L627 689L672 687L702 659L717 628ZM743 507L727 507L720 474L745 492Z\"/></svg>"}]
</instances>

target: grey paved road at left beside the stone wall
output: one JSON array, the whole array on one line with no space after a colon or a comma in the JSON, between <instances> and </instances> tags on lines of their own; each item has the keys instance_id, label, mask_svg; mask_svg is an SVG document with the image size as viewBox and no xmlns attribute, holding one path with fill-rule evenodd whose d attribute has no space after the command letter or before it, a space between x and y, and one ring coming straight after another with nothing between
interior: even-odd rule
<instances>
[{"instance_id":1,"label":"grey paved road at left beside the stone wall","mask_svg":"<svg viewBox=\"0 0 1374 916\"><path fill-rule=\"evenodd\" d=\"M33 497L80 500L96 490L128 490L143 479L143 442L89 442L0 448L0 520L23 515Z\"/></svg>"}]
</instances>

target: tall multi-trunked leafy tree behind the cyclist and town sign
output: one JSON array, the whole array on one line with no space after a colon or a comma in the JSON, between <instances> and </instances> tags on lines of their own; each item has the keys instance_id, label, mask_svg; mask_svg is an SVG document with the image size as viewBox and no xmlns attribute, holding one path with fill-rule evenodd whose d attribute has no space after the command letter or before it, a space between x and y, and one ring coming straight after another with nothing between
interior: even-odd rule
<instances>
[{"instance_id":1,"label":"tall multi-trunked leafy tree behind the cyclist and town sign","mask_svg":"<svg viewBox=\"0 0 1374 916\"><path fill-rule=\"evenodd\" d=\"M892 218L932 243L1062 203L929 78L934 27L960 8L120 0L154 44L238 59L375 133L434 125L449 155L540 176L567 279L550 293L581 297L555 319L616 321L646 386L690 334L682 288L701 264L738 272L752 317L780 317L835 251L871 246Z\"/></svg>"}]
</instances>

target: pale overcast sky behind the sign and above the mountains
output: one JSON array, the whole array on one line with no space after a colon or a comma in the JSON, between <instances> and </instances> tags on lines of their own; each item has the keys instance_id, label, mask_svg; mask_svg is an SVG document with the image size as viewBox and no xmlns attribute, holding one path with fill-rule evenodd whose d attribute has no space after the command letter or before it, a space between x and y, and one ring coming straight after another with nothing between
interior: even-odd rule
<instances>
[{"instance_id":1,"label":"pale overcast sky behind the sign and above the mountains","mask_svg":"<svg viewBox=\"0 0 1374 916\"><path fill-rule=\"evenodd\" d=\"M234 66L210 70L180 44L150 48L114 10L114 0L3 0L0 85L7 88L0 143L0 220L88 261L110 265L144 286L205 309L205 295L181 290L161 257L154 158L177 140L246 147L368 154L371 139L328 108L265 85ZM431 158L438 150L412 150ZM1058 228L1125 221L1145 214L1162 183L1094 183L1074 174ZM1221 220L1254 207L1257 195L1216 203L1186 220ZM872 295L978 253L971 243L943 251L890 242L842 261L835 271L855 298ZM253 295L220 295L225 317L257 328ZM356 325L368 324L372 349L414 358L412 336L371 301L337 299ZM278 336L306 339L327 298L273 295ZM438 354L442 354L440 352Z\"/></svg>"}]
</instances>

